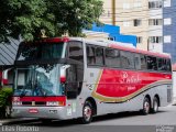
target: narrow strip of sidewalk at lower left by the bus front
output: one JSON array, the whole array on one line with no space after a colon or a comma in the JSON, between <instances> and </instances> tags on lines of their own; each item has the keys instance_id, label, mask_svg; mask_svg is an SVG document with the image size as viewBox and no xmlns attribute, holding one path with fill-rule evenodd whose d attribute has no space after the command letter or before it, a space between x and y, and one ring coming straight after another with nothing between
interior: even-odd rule
<instances>
[{"instance_id":1,"label":"narrow strip of sidewalk at lower left by the bus front","mask_svg":"<svg viewBox=\"0 0 176 132\"><path fill-rule=\"evenodd\" d=\"M36 121L38 119L35 118L18 118L18 119L0 119L0 127L6 124L12 124L12 123L25 123L29 121Z\"/></svg>"}]
</instances>

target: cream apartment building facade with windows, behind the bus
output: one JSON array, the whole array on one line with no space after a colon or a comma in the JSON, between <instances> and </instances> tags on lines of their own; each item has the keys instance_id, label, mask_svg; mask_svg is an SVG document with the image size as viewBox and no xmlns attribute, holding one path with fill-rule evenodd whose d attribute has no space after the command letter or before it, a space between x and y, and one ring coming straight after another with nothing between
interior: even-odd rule
<instances>
[{"instance_id":1,"label":"cream apartment building facade with windows, behind the bus","mask_svg":"<svg viewBox=\"0 0 176 132\"><path fill-rule=\"evenodd\" d=\"M103 0L100 21L119 25L122 34L136 35L136 47L163 52L163 0Z\"/></svg>"}]
</instances>

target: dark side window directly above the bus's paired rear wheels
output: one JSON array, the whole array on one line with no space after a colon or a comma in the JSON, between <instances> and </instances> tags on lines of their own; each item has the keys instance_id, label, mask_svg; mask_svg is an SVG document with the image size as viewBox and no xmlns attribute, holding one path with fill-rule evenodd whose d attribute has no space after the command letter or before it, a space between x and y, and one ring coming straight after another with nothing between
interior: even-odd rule
<instances>
[{"instance_id":1,"label":"dark side window directly above the bus's paired rear wheels","mask_svg":"<svg viewBox=\"0 0 176 132\"><path fill-rule=\"evenodd\" d=\"M156 57L147 56L147 69L157 70Z\"/></svg>"}]
</instances>

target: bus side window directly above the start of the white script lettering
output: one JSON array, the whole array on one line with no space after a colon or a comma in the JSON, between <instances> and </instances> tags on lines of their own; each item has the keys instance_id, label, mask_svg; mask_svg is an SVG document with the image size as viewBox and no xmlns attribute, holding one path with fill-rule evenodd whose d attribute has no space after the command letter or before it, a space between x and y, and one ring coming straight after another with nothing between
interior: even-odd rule
<instances>
[{"instance_id":1,"label":"bus side window directly above the start of the white script lettering","mask_svg":"<svg viewBox=\"0 0 176 132\"><path fill-rule=\"evenodd\" d=\"M134 68L134 54L130 52L120 52L122 68Z\"/></svg>"}]
</instances>

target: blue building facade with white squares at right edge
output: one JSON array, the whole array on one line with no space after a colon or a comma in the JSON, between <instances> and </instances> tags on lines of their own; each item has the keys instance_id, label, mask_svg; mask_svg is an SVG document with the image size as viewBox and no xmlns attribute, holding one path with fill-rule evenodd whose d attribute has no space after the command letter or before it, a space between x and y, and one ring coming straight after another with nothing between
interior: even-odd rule
<instances>
[{"instance_id":1,"label":"blue building facade with white squares at right edge","mask_svg":"<svg viewBox=\"0 0 176 132\"><path fill-rule=\"evenodd\" d=\"M169 53L176 65L176 0L164 0L163 19L163 52Z\"/></svg>"}]
</instances>

